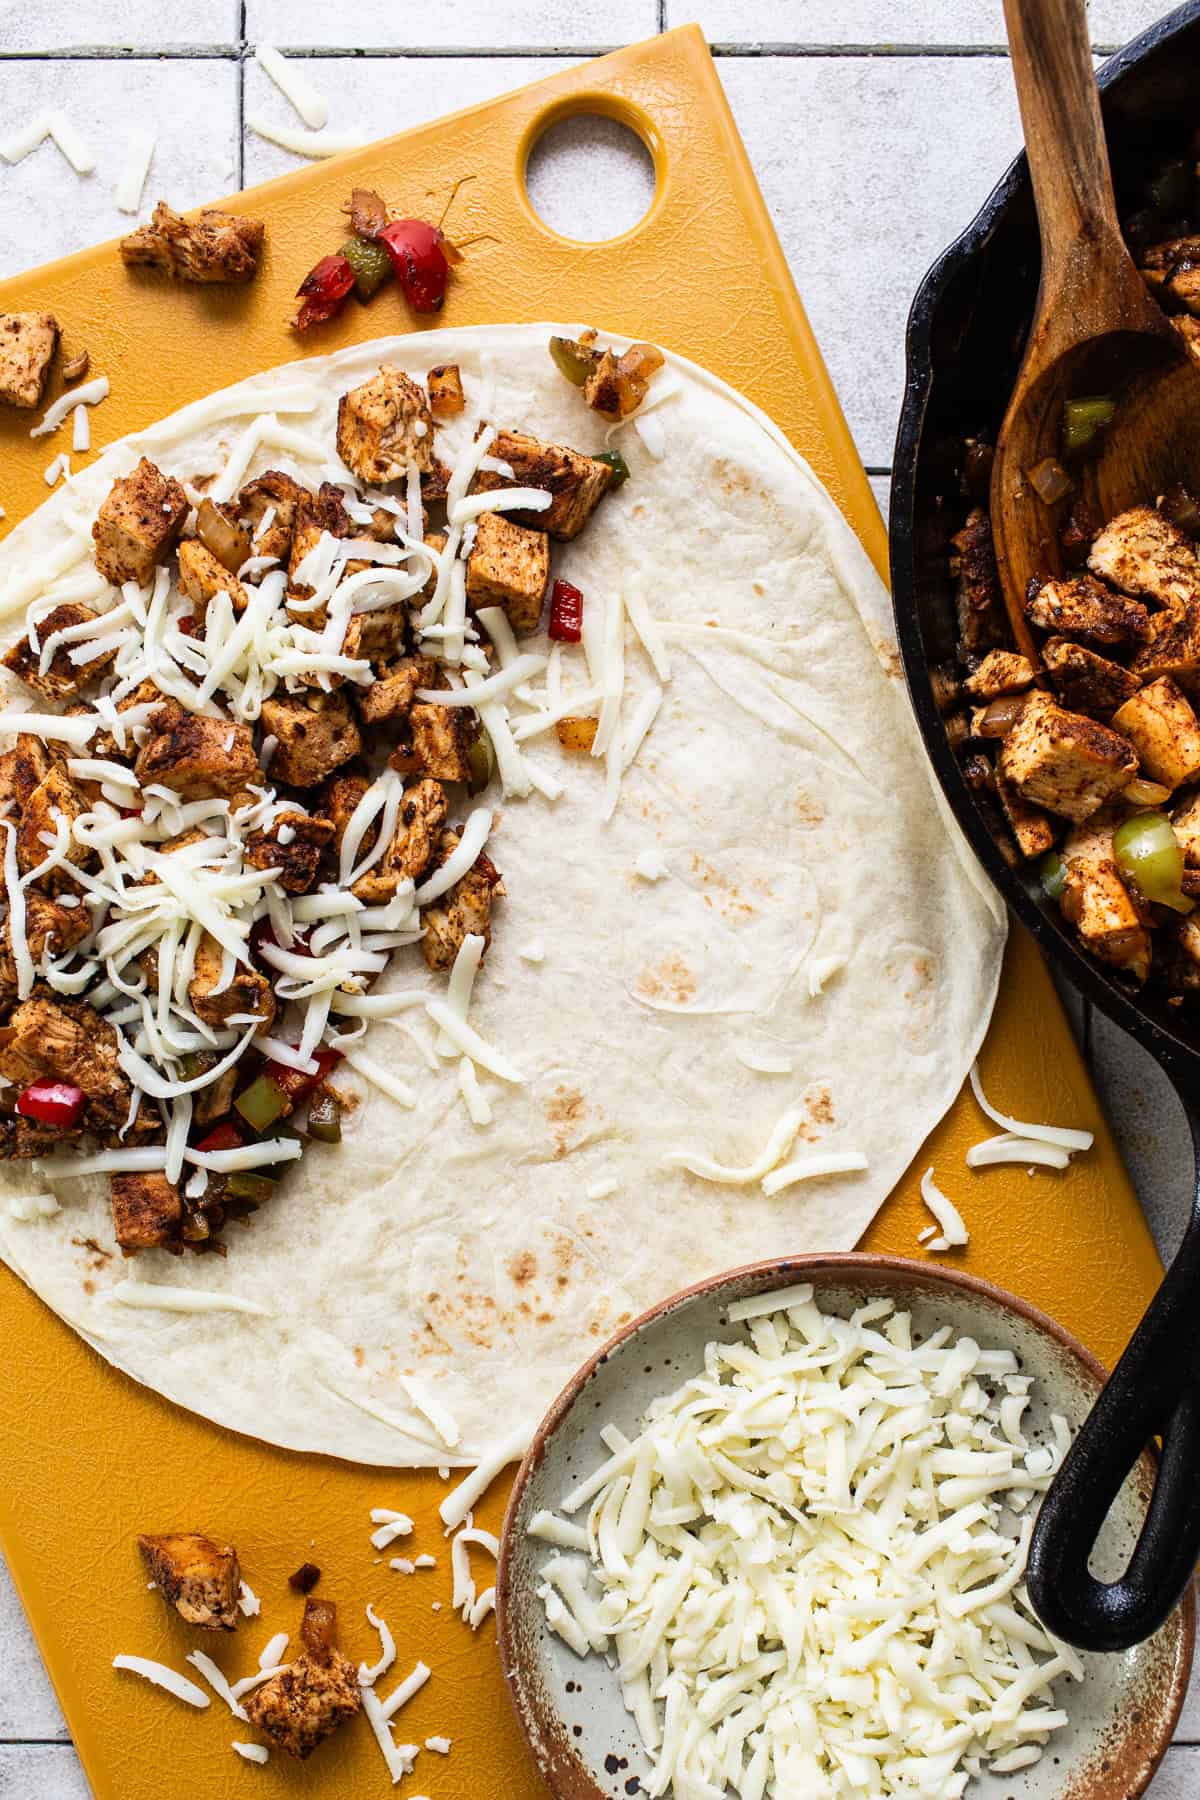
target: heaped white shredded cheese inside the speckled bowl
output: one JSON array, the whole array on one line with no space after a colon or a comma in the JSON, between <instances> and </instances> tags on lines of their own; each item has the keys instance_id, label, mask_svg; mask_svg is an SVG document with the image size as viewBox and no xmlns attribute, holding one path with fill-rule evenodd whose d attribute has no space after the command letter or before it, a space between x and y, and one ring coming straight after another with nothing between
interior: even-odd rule
<instances>
[{"instance_id":1,"label":"heaped white shredded cheese inside the speckled bowl","mask_svg":"<svg viewBox=\"0 0 1200 1800\"><path fill-rule=\"evenodd\" d=\"M538 1589L579 1656L615 1667L649 1795L957 1800L1067 1724L1083 1678L1024 1588L1029 1501L1069 1442L1022 1431L1031 1379L891 1300L811 1287L730 1307L703 1372L538 1514ZM587 1525L574 1516L587 1512Z\"/></svg>"}]
</instances>

